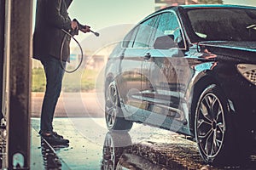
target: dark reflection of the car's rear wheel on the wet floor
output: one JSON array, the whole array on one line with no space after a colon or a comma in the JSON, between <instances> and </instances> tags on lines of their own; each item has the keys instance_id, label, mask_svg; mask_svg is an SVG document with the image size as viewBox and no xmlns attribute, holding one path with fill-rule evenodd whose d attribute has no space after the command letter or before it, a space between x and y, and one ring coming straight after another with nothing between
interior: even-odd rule
<instances>
[{"instance_id":1,"label":"dark reflection of the car's rear wheel on the wet floor","mask_svg":"<svg viewBox=\"0 0 256 170\"><path fill-rule=\"evenodd\" d=\"M129 133L108 132L103 145L102 169L166 169L133 153Z\"/></svg>"}]
</instances>

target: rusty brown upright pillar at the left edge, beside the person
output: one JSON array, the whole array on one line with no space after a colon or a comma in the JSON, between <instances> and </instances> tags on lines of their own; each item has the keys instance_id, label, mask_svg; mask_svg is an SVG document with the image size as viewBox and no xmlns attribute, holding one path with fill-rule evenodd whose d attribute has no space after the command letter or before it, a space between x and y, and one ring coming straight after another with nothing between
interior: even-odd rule
<instances>
[{"instance_id":1,"label":"rusty brown upright pillar at the left edge, beside the person","mask_svg":"<svg viewBox=\"0 0 256 170\"><path fill-rule=\"evenodd\" d=\"M32 55L32 0L8 0L9 113L7 152L9 169L30 166L30 82Z\"/></svg>"}]
</instances>

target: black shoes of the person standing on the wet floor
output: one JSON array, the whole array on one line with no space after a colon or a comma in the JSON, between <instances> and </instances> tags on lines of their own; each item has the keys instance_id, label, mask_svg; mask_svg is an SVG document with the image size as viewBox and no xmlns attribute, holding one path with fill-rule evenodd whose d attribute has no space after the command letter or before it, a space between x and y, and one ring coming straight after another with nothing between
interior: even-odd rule
<instances>
[{"instance_id":1,"label":"black shoes of the person standing on the wet floor","mask_svg":"<svg viewBox=\"0 0 256 170\"><path fill-rule=\"evenodd\" d=\"M53 145L59 145L59 144L68 144L68 139L61 138L61 135L56 135L56 133L40 133L41 136L49 143Z\"/></svg>"}]
</instances>

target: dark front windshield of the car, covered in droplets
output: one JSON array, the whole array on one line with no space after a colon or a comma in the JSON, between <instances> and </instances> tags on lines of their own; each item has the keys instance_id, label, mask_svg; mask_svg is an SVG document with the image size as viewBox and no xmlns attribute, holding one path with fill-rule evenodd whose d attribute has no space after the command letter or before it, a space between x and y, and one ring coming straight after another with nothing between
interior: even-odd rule
<instances>
[{"instance_id":1,"label":"dark front windshield of the car, covered in droplets","mask_svg":"<svg viewBox=\"0 0 256 170\"><path fill-rule=\"evenodd\" d=\"M256 10L251 8L195 8L187 14L192 42L256 40Z\"/></svg>"}]
</instances>

